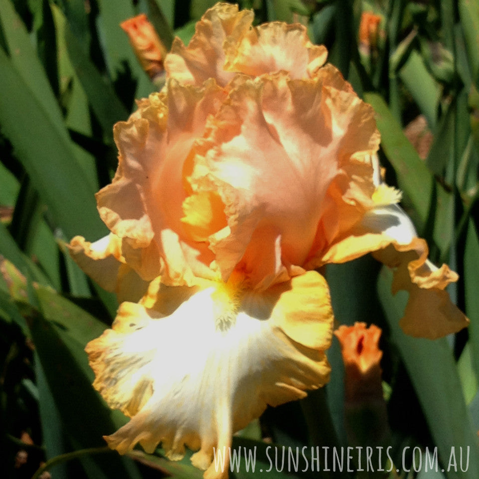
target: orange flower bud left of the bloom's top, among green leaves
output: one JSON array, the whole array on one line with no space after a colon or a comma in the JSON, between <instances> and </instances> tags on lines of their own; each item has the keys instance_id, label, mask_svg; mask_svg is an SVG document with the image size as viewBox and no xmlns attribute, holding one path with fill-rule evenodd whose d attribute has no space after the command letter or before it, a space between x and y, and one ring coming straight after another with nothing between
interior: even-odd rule
<instances>
[{"instance_id":1,"label":"orange flower bud left of the bloom's top, among green leaves","mask_svg":"<svg viewBox=\"0 0 479 479\"><path fill-rule=\"evenodd\" d=\"M120 24L127 33L135 55L151 79L165 71L163 60L167 50L144 13Z\"/></svg>"}]
</instances>

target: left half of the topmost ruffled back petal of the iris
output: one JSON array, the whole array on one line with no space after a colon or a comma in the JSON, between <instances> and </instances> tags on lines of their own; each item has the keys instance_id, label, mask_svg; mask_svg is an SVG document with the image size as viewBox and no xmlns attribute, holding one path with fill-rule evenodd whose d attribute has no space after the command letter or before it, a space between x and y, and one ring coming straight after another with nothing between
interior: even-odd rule
<instances>
[{"instance_id":1,"label":"left half of the topmost ruffled back petal of the iris","mask_svg":"<svg viewBox=\"0 0 479 479\"><path fill-rule=\"evenodd\" d=\"M238 5L217 3L196 24L195 34L188 46L177 37L171 52L165 59L165 69L170 78L182 84L202 85L214 78L226 86L235 76L224 70L225 52L223 44L235 43L253 21L251 10L238 11Z\"/></svg>"}]
</instances>

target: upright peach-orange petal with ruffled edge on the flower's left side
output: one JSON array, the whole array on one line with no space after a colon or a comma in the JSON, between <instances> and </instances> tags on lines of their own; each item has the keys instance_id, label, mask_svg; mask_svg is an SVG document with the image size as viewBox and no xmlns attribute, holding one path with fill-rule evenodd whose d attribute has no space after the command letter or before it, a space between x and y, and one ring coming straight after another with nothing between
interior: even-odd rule
<instances>
[{"instance_id":1,"label":"upright peach-orange petal with ruffled edge on the flower's left side","mask_svg":"<svg viewBox=\"0 0 479 479\"><path fill-rule=\"evenodd\" d=\"M195 271L212 275L211 254L203 245L195 248L180 221L183 169L224 96L213 80L202 88L172 81L168 96L150 95L115 125L119 165L113 182L97 193L98 210L121 238L125 262L147 281L161 275L169 284L190 284Z\"/></svg>"}]
</instances>

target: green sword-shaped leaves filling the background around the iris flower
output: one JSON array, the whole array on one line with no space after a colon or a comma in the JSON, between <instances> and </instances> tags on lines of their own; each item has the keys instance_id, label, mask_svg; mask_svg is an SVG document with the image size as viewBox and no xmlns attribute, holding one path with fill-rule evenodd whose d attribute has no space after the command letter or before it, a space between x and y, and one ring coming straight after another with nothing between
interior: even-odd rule
<instances>
[{"instance_id":1,"label":"green sword-shaped leaves filling the background around the iris flower","mask_svg":"<svg viewBox=\"0 0 479 479\"><path fill-rule=\"evenodd\" d=\"M147 13L169 46L174 35L188 41L195 21L214 3L0 1L2 477L31 477L47 460L54 479L202 477L188 458L170 463L161 450L120 458L104 448L101 435L126 418L110 411L91 388L93 373L83 348L111 323L117 304L71 261L64 241L106 233L94 193L110 182L116 168L113 124L128 117L135 98L155 89L119 23ZM244 0L240 6L253 8L257 23L302 22L313 42L328 47L329 61L377 113L388 182L404 192L403 207L428 240L431 259L447 260L460 273L450 294L471 326L434 342L401 332L405 297L391 296L390 273L370 258L330 266L327 279L338 323L374 322L384 331L382 367L394 463L401 465L405 447L411 452L438 447L446 472L421 472L418 478L475 479L479 0ZM378 15L376 22L362 23L364 12ZM264 435L299 448L348 445L337 342L329 360L333 374L324 390L267 410L260 423L235 438L235 445L256 446L265 469ZM33 444L21 443L22 432ZM471 447L467 472L447 471L451 446ZM21 471L14 468L20 449L28 453ZM415 458L411 453L405 460L411 467ZM240 470L231 476L260 474ZM334 477L353 475L343 471ZM393 470L389 476L357 477L397 475Z\"/></svg>"}]
</instances>

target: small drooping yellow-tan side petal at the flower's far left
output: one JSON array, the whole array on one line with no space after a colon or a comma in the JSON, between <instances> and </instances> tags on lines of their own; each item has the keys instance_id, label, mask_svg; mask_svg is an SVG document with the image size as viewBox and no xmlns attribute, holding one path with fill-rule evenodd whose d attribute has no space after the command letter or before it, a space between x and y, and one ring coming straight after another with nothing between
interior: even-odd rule
<instances>
[{"instance_id":1,"label":"small drooping yellow-tan side petal at the flower's far left","mask_svg":"<svg viewBox=\"0 0 479 479\"><path fill-rule=\"evenodd\" d=\"M69 243L70 255L86 274L119 301L137 301L148 283L124 263L121 240L110 234L93 243L76 236Z\"/></svg>"}]
</instances>

